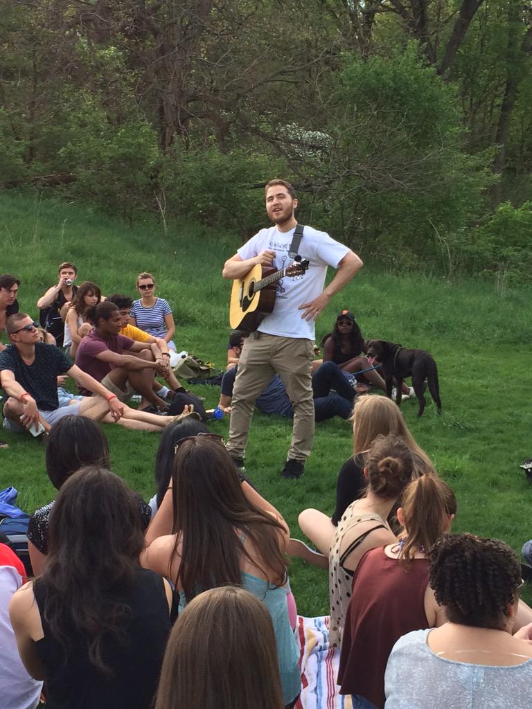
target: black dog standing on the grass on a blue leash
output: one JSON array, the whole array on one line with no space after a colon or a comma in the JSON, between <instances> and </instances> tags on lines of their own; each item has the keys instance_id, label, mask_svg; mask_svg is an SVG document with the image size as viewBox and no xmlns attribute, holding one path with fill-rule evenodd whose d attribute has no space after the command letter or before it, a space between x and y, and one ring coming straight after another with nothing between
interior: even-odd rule
<instances>
[{"instance_id":1,"label":"black dog standing on the grass on a blue leash","mask_svg":"<svg viewBox=\"0 0 532 709\"><path fill-rule=\"evenodd\" d=\"M369 340L367 342L367 359L370 364L375 361L382 364L382 375L386 382L386 393L392 398L392 379L395 378L397 395L395 403L401 406L401 388L406 376L412 377L412 386L419 401L418 416L425 408L423 396L423 381L427 380L428 391L436 403L438 413L441 413L440 385L438 384L438 368L431 354L425 350L407 350L386 340Z\"/></svg>"}]
</instances>

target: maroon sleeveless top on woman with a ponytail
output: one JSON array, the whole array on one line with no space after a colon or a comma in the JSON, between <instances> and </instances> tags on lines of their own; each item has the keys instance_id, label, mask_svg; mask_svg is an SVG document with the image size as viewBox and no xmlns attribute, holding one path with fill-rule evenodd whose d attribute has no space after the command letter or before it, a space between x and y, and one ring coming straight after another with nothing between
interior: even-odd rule
<instances>
[{"instance_id":1,"label":"maroon sleeveless top on woman with a ponytail","mask_svg":"<svg viewBox=\"0 0 532 709\"><path fill-rule=\"evenodd\" d=\"M359 694L384 707L384 671L392 647L429 623L425 613L428 562L412 559L408 569L384 547L371 549L353 576L353 598L345 616L338 683L341 694Z\"/></svg>"}]
</instances>

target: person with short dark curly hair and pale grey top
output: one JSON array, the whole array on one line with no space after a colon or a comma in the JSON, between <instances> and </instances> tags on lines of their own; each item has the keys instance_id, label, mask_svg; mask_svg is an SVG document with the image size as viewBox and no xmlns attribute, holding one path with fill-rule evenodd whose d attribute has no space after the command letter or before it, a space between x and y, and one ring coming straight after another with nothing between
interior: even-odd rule
<instances>
[{"instance_id":1,"label":"person with short dark curly hair and pale grey top","mask_svg":"<svg viewBox=\"0 0 532 709\"><path fill-rule=\"evenodd\" d=\"M497 540L448 535L433 545L428 563L448 623L395 643L386 709L528 709L531 628L512 636L523 585L517 554Z\"/></svg>"}]
</instances>

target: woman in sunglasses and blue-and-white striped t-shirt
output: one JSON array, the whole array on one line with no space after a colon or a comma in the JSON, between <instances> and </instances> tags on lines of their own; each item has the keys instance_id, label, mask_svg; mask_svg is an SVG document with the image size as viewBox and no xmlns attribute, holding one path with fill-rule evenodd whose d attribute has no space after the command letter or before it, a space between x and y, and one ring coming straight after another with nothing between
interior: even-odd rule
<instances>
[{"instance_id":1,"label":"woman in sunglasses and blue-and-white striped t-shirt","mask_svg":"<svg viewBox=\"0 0 532 709\"><path fill-rule=\"evenodd\" d=\"M144 330L152 337L166 340L168 347L175 352L172 341L175 333L174 316L172 308L165 298L155 296L155 281L152 274L141 273L137 277L137 289L140 293L138 301L133 302L131 308L131 325Z\"/></svg>"}]
</instances>

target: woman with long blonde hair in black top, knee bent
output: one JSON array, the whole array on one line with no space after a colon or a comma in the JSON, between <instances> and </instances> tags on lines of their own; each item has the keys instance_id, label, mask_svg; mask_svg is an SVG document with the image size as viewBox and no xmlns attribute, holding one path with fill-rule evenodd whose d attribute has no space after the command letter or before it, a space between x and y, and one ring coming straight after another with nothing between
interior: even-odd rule
<instances>
[{"instance_id":1,"label":"woman with long blonde hair in black top, knee bent","mask_svg":"<svg viewBox=\"0 0 532 709\"><path fill-rule=\"evenodd\" d=\"M299 527L319 552L313 552L299 540L290 540L290 556L298 556L311 564L327 568L327 556L336 527L345 510L365 493L367 481L363 470L365 457L372 442L379 435L392 434L399 437L413 454L412 478L427 473L436 475L436 471L406 425L401 411L396 404L385 396L360 396L353 408L353 456L346 461L336 483L336 508L332 518L319 510L303 510L299 515Z\"/></svg>"}]
</instances>

